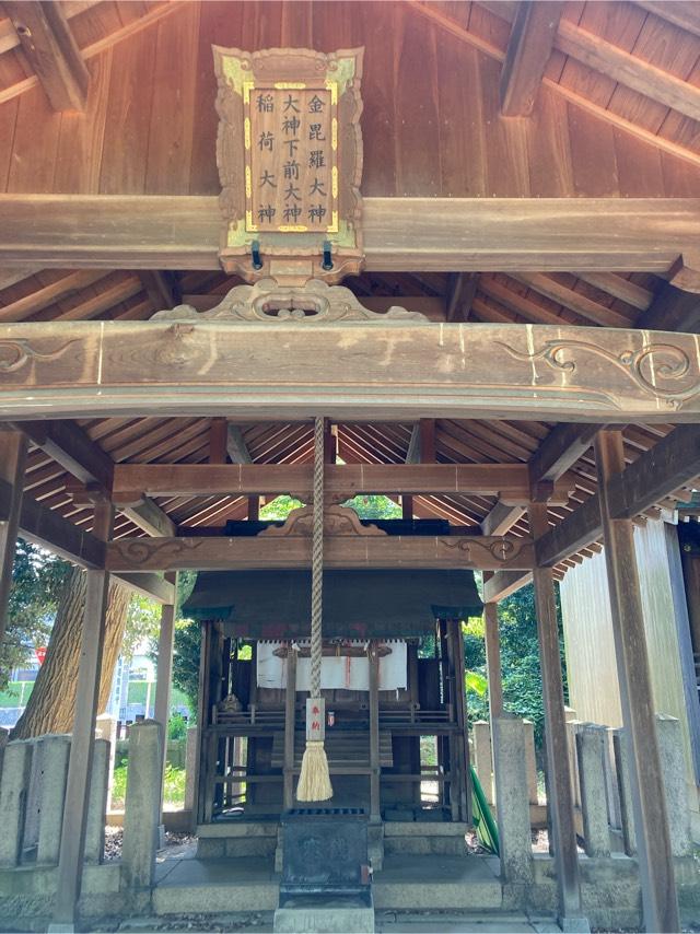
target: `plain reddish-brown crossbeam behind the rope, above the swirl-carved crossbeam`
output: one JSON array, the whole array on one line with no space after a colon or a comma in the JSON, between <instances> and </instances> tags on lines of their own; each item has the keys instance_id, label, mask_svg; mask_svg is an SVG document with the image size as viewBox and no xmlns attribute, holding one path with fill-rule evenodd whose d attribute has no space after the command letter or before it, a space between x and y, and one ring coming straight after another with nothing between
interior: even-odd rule
<instances>
[{"instance_id":1,"label":"plain reddish-brown crossbeam behind the rope, above the swirl-carved crossbeam","mask_svg":"<svg viewBox=\"0 0 700 934\"><path fill-rule=\"evenodd\" d=\"M312 489L311 464L117 464L113 497L128 505L131 497L277 495ZM478 493L506 503L529 501L526 464L328 464L326 491L331 494ZM559 480L551 501L568 502L571 480Z\"/></svg>"}]
</instances>

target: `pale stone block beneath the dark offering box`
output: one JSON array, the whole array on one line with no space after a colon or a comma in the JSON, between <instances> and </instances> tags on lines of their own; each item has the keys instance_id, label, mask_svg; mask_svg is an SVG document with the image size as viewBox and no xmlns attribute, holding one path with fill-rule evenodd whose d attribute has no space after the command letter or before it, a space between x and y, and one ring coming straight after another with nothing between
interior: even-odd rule
<instances>
[{"instance_id":1,"label":"pale stone block beneath the dark offering box","mask_svg":"<svg viewBox=\"0 0 700 934\"><path fill-rule=\"evenodd\" d=\"M275 912L279 934L374 934L374 909L358 899L296 898Z\"/></svg>"}]
</instances>

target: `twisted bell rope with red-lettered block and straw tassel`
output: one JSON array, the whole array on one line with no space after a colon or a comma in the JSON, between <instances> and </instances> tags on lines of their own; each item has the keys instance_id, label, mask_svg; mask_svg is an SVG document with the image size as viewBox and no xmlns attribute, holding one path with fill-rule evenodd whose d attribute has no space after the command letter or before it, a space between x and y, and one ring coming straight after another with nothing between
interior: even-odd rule
<instances>
[{"instance_id":1,"label":"twisted bell rope with red-lettered block and straw tassel","mask_svg":"<svg viewBox=\"0 0 700 934\"><path fill-rule=\"evenodd\" d=\"M332 786L324 748L326 704L320 696L324 585L324 420L314 421L314 512L311 562L311 697L306 701L306 748L298 801L328 801Z\"/></svg>"}]
</instances>

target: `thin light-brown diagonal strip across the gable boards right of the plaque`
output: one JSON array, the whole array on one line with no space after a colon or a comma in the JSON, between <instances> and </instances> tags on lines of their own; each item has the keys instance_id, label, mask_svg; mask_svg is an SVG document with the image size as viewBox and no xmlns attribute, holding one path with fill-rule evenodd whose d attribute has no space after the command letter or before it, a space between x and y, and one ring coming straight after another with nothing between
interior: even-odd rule
<instances>
[{"instance_id":1,"label":"thin light-brown diagonal strip across the gable boards right of the plaque","mask_svg":"<svg viewBox=\"0 0 700 934\"><path fill-rule=\"evenodd\" d=\"M468 30L465 30L464 26L460 26L459 23L455 22L451 16L447 16L445 13L443 13L436 3L423 3L418 2L418 0L408 0L408 3L422 16L425 16L425 19L442 26L442 28L444 28L446 32L450 32L458 39L468 43L470 46L479 49L479 51L482 51L485 55L494 58L497 61L503 61L503 59L505 58L505 52L503 51L503 49L493 45L493 43L489 42L488 39L478 36L475 33L470 33ZM499 11L497 15L500 15L502 19L505 19L510 22L511 16L509 14L509 11L511 4L499 2L497 4L486 3L481 5L486 5L489 9L493 7L503 8L503 10ZM559 84L558 81L555 81L553 79L545 75L542 78L542 85L546 86L548 90L555 92L556 94L560 95L564 100L570 101L572 104L575 104L578 107L581 107L583 110L586 110L587 113L593 114L593 116L598 117L600 120L611 124L618 129L625 130L631 136L637 137L638 139L641 139L644 142L651 143L657 149L673 153L674 155L677 155L680 159L686 160L687 162L692 162L696 165L700 165L699 153L693 152L692 150L689 150L678 143L674 143L664 137L656 136L655 133L643 127L641 124L632 122L631 120L619 116L619 114L616 114L612 110L608 110L606 107L596 104L588 97L584 97L576 91L572 91L564 84Z\"/></svg>"}]
</instances>

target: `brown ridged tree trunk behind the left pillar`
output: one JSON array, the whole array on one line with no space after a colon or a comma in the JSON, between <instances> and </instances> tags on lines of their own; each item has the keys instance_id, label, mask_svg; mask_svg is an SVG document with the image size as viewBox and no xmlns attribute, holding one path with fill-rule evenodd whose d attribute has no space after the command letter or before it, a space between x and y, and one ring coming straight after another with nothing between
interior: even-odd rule
<instances>
[{"instance_id":1,"label":"brown ridged tree trunk behind the left pillar","mask_svg":"<svg viewBox=\"0 0 700 934\"><path fill-rule=\"evenodd\" d=\"M12 739L27 739L45 733L70 733L73 728L85 589L85 572L74 568L61 594L46 658L39 668L26 709L12 731ZM109 699L130 598L130 592L121 584L114 581L109 584L100 678L100 712L104 711Z\"/></svg>"}]
</instances>

